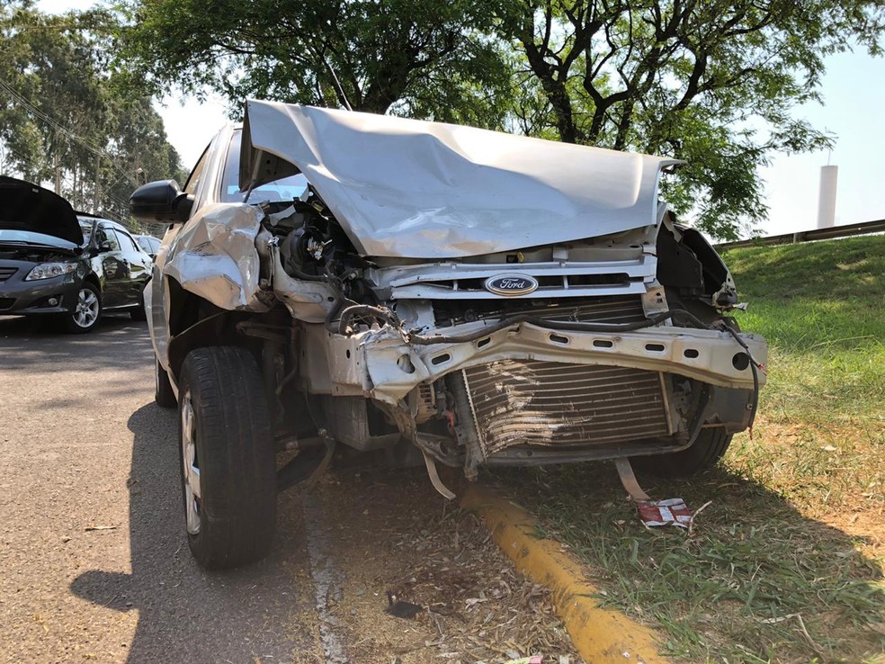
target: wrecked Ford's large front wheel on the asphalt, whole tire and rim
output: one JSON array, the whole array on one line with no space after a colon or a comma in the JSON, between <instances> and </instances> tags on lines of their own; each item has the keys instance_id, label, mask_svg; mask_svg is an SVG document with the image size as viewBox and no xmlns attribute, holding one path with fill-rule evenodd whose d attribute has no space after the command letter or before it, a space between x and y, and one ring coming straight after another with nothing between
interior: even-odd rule
<instances>
[{"instance_id":1,"label":"wrecked Ford's large front wheel on the asphalt, whole tire and rim","mask_svg":"<svg viewBox=\"0 0 885 664\"><path fill-rule=\"evenodd\" d=\"M255 359L233 346L192 350L179 396L182 493L193 557L209 570L257 561L273 541L277 489L270 413Z\"/></svg>"}]
</instances>

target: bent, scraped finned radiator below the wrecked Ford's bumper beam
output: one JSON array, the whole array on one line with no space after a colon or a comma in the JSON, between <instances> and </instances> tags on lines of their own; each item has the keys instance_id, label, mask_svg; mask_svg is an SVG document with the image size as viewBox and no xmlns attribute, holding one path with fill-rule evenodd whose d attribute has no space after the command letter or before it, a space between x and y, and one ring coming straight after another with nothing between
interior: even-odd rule
<instances>
[{"instance_id":1,"label":"bent, scraped finned radiator below the wrecked Ford's bumper beam","mask_svg":"<svg viewBox=\"0 0 885 664\"><path fill-rule=\"evenodd\" d=\"M503 360L463 376L486 458L514 445L611 445L670 434L658 372Z\"/></svg>"}]
</instances>

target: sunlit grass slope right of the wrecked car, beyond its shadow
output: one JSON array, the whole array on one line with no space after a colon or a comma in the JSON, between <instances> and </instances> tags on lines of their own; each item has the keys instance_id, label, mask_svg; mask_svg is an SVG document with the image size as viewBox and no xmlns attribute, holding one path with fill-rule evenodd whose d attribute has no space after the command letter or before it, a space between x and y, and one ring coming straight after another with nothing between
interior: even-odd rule
<instances>
[{"instance_id":1,"label":"sunlit grass slope right of the wrecked car, beyond its shadow","mask_svg":"<svg viewBox=\"0 0 885 664\"><path fill-rule=\"evenodd\" d=\"M885 237L723 257L750 303L741 325L771 347L760 438L739 436L727 464L809 515L881 507Z\"/></svg>"}]
</instances>

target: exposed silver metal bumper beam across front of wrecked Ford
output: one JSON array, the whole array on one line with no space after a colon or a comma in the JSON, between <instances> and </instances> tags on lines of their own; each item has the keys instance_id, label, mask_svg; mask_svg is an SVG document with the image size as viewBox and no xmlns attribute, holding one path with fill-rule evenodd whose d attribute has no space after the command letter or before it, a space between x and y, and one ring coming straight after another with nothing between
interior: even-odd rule
<instances>
[{"instance_id":1,"label":"exposed silver metal bumper beam across front of wrecked Ford","mask_svg":"<svg viewBox=\"0 0 885 664\"><path fill-rule=\"evenodd\" d=\"M456 332L481 328L481 324L464 325ZM451 328L446 332L451 333ZM768 346L761 336L738 336L757 363L767 361ZM591 333L520 323L465 343L413 345L387 326L353 336L324 335L323 340L327 345L309 348L304 360L308 364L327 362L327 368L317 366L317 371L308 370L309 375L319 376L325 370L328 392L333 395L361 395L390 404L421 383L508 360L624 367L675 373L721 388L754 388L746 350L729 332L709 329L664 326ZM764 384L764 375L758 383L758 387Z\"/></svg>"}]
</instances>

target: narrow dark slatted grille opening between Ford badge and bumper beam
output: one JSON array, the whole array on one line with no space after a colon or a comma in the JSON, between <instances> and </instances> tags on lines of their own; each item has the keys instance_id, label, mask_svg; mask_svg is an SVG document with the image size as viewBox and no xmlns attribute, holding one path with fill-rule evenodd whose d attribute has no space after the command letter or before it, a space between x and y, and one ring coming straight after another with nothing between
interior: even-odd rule
<instances>
[{"instance_id":1,"label":"narrow dark slatted grille opening between Ford badge and bumper beam","mask_svg":"<svg viewBox=\"0 0 885 664\"><path fill-rule=\"evenodd\" d=\"M642 300L637 296L599 297L579 303L567 301L434 301L436 324L445 327L468 320L498 319L525 314L548 320L577 320L593 323L637 323L645 320Z\"/></svg>"}]
</instances>

